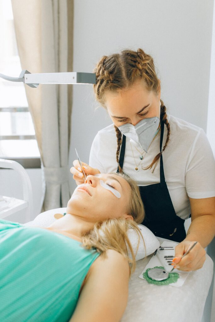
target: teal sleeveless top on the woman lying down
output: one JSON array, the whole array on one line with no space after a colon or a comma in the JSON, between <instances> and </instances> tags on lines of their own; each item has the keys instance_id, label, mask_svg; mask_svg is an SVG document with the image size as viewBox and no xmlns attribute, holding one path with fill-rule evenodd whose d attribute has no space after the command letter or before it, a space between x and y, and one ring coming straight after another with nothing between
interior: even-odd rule
<instances>
[{"instance_id":1,"label":"teal sleeveless top on the woman lying down","mask_svg":"<svg viewBox=\"0 0 215 322\"><path fill-rule=\"evenodd\" d=\"M60 233L0 219L0 321L69 321L99 255Z\"/></svg>"}]
</instances>

